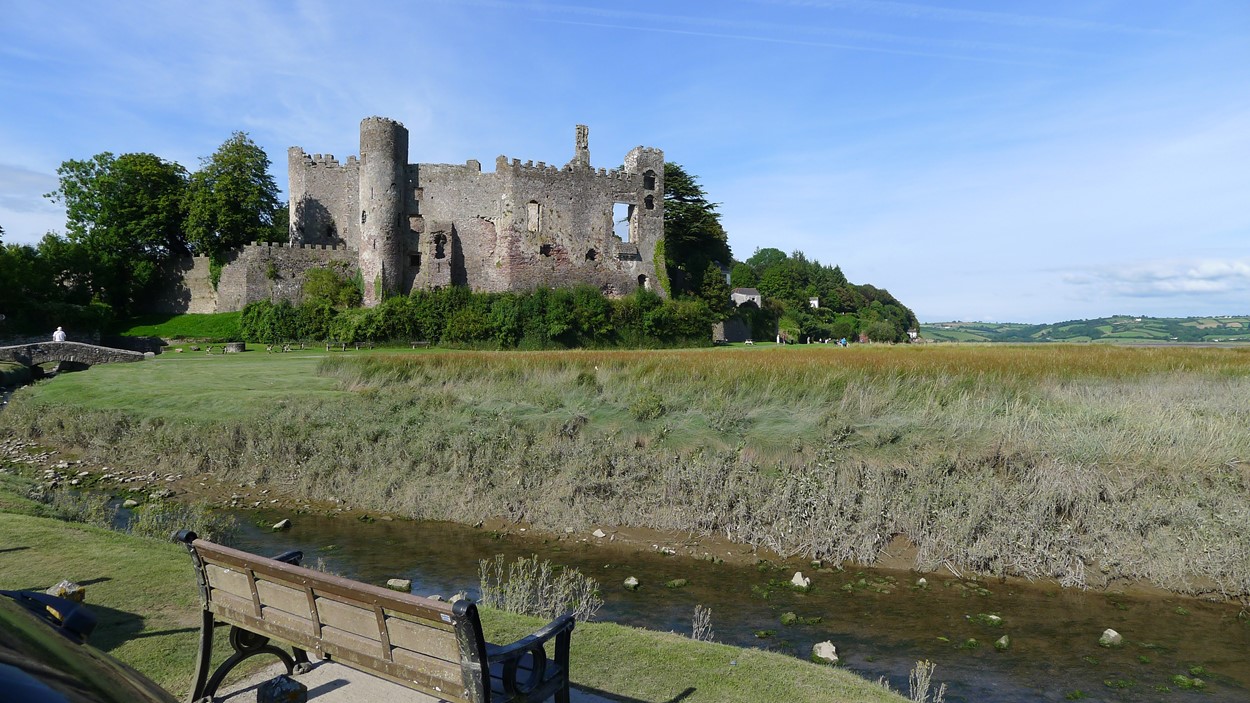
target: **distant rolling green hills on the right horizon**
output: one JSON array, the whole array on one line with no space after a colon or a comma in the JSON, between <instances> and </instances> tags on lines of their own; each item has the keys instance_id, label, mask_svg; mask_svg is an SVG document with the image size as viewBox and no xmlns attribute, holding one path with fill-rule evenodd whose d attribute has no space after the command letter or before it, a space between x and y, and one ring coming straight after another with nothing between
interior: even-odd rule
<instances>
[{"instance_id":1,"label":"distant rolling green hills on the right horizon","mask_svg":"<svg viewBox=\"0 0 1250 703\"><path fill-rule=\"evenodd\" d=\"M1116 315L1044 325L1021 323L921 323L929 341L1250 343L1250 315L1139 318Z\"/></svg>"}]
</instances>

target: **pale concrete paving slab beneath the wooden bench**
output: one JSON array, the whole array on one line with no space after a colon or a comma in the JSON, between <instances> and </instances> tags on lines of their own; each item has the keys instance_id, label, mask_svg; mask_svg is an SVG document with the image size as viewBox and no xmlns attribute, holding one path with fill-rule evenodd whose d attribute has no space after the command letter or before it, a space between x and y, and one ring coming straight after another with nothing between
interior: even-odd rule
<instances>
[{"instance_id":1,"label":"pale concrete paving slab beneath the wooden bench","mask_svg":"<svg viewBox=\"0 0 1250 703\"><path fill-rule=\"evenodd\" d=\"M216 699L229 703L252 703L256 700L256 688L260 684L284 673L286 673L285 667L274 664L245 680L222 687ZM309 688L309 700L318 703L439 703L440 700L338 662L315 662L312 670L294 678ZM618 703L578 687L572 687L570 699L571 703Z\"/></svg>"}]
</instances>

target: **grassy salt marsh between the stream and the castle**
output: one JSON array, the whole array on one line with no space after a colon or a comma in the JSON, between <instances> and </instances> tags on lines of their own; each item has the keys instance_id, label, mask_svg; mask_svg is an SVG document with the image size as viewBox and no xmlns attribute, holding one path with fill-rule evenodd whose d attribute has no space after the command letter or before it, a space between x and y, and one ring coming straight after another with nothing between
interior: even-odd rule
<instances>
[{"instance_id":1,"label":"grassy salt marsh between the stream and the castle","mask_svg":"<svg viewBox=\"0 0 1250 703\"><path fill-rule=\"evenodd\" d=\"M0 428L415 518L1250 595L1250 349L164 355Z\"/></svg>"}]
</instances>

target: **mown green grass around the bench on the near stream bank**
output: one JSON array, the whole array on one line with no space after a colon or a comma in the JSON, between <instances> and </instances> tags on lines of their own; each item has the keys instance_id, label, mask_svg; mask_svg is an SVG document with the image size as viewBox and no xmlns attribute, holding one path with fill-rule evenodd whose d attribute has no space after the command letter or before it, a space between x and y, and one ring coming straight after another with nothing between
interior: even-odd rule
<instances>
[{"instance_id":1,"label":"mown green grass around the bench on the near stream bank","mask_svg":"<svg viewBox=\"0 0 1250 703\"><path fill-rule=\"evenodd\" d=\"M186 552L81 524L22 514L38 507L0 477L0 588L86 585L100 619L91 643L182 697L190 687L199 594ZM484 609L491 640L511 642L541 625ZM224 657L225 638L219 638ZM831 667L771 652L695 642L610 623L579 623L572 635L576 685L626 700L754 703L756 700L904 700Z\"/></svg>"}]
</instances>

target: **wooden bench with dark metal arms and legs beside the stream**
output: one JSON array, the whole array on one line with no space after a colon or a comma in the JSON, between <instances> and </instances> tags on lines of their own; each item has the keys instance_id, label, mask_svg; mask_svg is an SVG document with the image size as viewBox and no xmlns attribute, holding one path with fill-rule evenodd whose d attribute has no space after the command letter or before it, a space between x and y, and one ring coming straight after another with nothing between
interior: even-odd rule
<instances>
[{"instance_id":1,"label":"wooden bench with dark metal arms and legs beside the stream","mask_svg":"<svg viewBox=\"0 0 1250 703\"><path fill-rule=\"evenodd\" d=\"M310 665L308 652L440 702L569 703L571 615L501 647L484 639L470 600L444 603L306 569L299 552L270 559L189 530L172 538L191 554L204 604L192 703L211 700L244 659L272 654L288 674L299 674ZM232 625L234 653L210 677L212 630L220 624Z\"/></svg>"}]
</instances>

